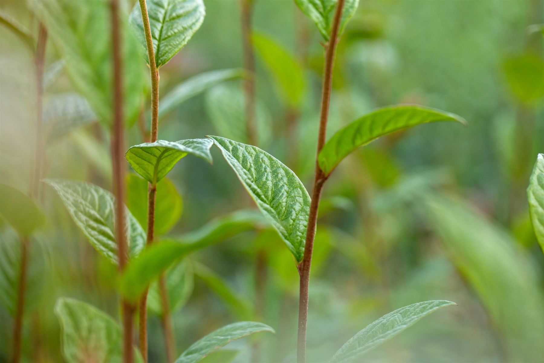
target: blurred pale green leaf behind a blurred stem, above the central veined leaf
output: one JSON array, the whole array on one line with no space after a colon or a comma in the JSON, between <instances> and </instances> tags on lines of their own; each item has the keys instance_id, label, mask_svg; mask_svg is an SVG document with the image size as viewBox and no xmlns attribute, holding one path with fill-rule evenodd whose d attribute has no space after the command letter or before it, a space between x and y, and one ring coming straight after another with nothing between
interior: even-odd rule
<instances>
[{"instance_id":1,"label":"blurred pale green leaf behind a blurred stem, above the central veined leaf","mask_svg":"<svg viewBox=\"0 0 544 363\"><path fill-rule=\"evenodd\" d=\"M247 143L244 105L245 97L239 85L219 84L206 93L206 112L215 130L227 138ZM258 144L267 145L272 134L270 114L259 100L255 112Z\"/></svg>"}]
</instances>

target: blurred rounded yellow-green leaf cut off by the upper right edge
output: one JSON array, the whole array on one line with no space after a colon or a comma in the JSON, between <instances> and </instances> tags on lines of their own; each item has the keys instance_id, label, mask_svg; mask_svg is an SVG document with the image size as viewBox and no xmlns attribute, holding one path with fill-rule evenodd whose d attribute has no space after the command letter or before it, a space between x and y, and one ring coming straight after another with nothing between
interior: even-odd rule
<instances>
[{"instance_id":1,"label":"blurred rounded yellow-green leaf cut off by the upper right edge","mask_svg":"<svg viewBox=\"0 0 544 363\"><path fill-rule=\"evenodd\" d=\"M544 96L544 59L536 54L510 57L503 64L511 93L520 102L531 103Z\"/></svg>"}]
</instances>

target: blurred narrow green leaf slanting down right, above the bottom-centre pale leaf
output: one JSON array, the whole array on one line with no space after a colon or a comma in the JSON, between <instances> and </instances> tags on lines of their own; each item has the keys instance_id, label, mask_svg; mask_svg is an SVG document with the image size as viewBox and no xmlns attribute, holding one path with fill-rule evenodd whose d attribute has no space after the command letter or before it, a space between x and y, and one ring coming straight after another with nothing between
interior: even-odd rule
<instances>
[{"instance_id":1,"label":"blurred narrow green leaf slanting down right, above the bottom-centre pale leaf","mask_svg":"<svg viewBox=\"0 0 544 363\"><path fill-rule=\"evenodd\" d=\"M194 262L194 272L196 277L202 279L225 302L236 318L250 319L253 316L253 306L249 300L232 291L221 276L198 262Z\"/></svg>"}]
</instances>

